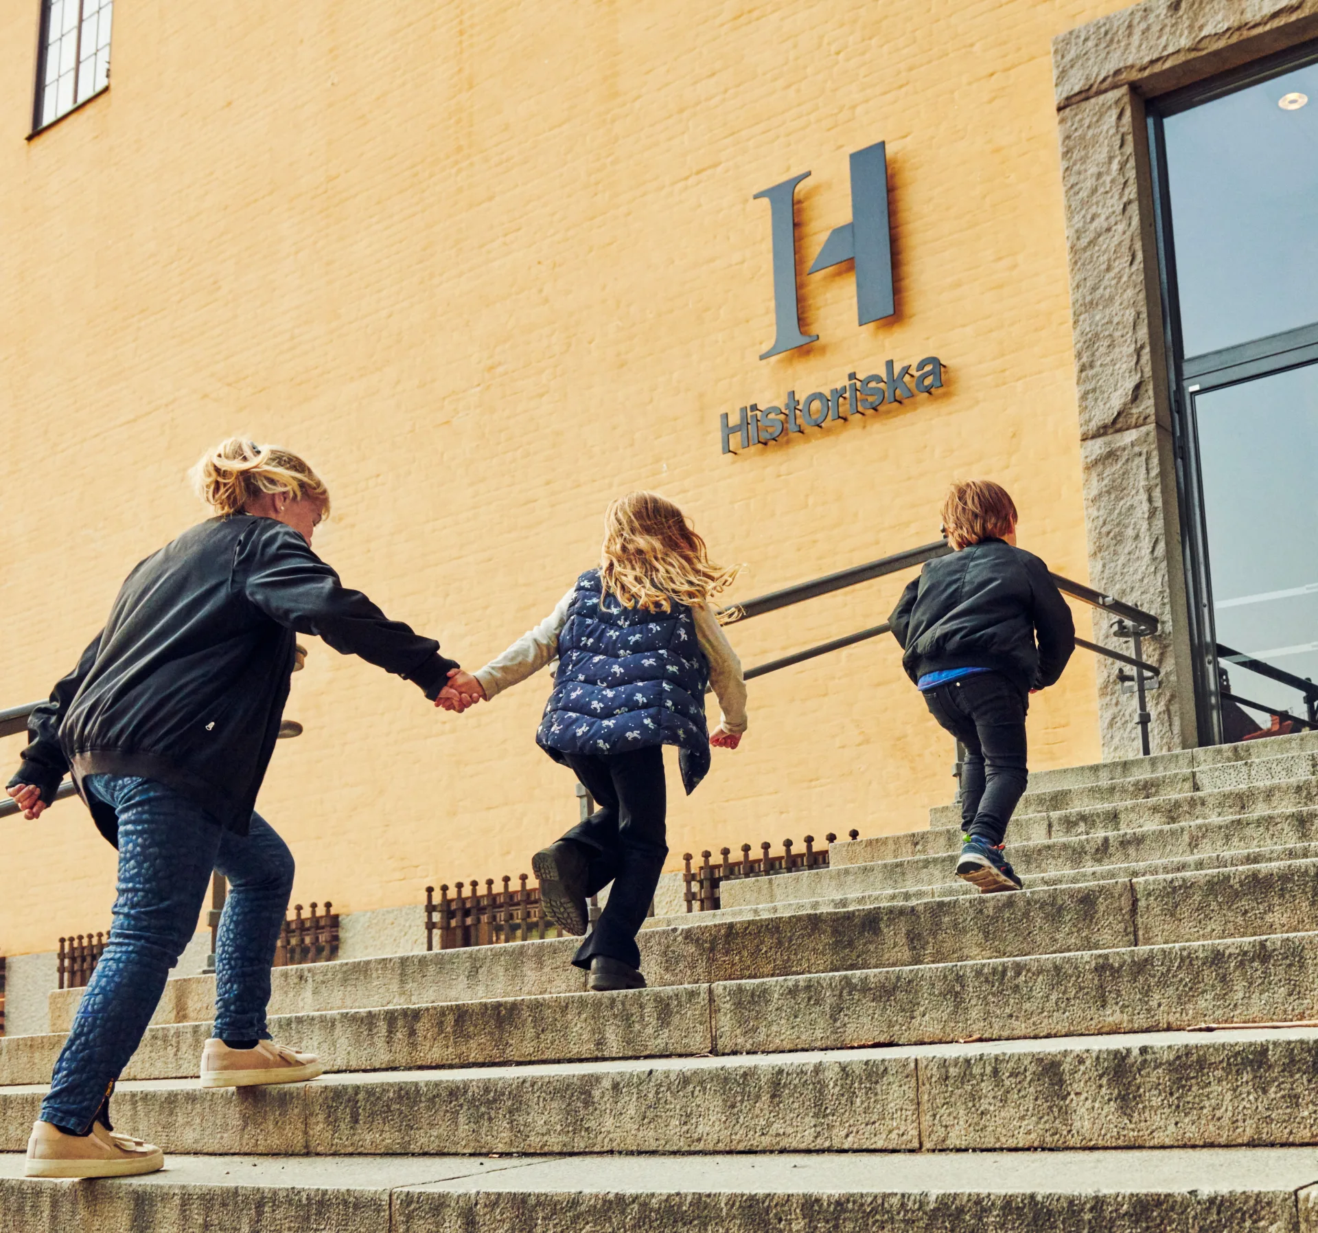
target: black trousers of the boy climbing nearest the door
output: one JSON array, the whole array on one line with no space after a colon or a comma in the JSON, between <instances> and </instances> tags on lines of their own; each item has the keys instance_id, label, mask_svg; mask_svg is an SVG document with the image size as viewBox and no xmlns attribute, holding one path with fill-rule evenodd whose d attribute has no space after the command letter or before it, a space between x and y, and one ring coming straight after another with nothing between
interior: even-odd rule
<instances>
[{"instance_id":1,"label":"black trousers of the boy climbing nearest the door","mask_svg":"<svg viewBox=\"0 0 1318 1233\"><path fill-rule=\"evenodd\" d=\"M1000 673L977 673L927 691L924 700L929 713L966 746L961 764L961 823L966 835L1000 844L1029 778L1028 696Z\"/></svg>"}]
</instances>

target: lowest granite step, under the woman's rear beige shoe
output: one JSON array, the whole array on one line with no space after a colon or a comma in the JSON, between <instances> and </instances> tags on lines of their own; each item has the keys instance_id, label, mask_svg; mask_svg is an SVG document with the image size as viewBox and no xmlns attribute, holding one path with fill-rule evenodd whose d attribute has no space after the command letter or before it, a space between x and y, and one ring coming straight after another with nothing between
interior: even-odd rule
<instances>
[{"instance_id":1,"label":"lowest granite step, under the woman's rear beige shoe","mask_svg":"<svg viewBox=\"0 0 1318 1233\"><path fill-rule=\"evenodd\" d=\"M21 1179L12 1233L1315 1233L1309 1147L844 1155L188 1157L121 1182Z\"/></svg>"}]
</instances>

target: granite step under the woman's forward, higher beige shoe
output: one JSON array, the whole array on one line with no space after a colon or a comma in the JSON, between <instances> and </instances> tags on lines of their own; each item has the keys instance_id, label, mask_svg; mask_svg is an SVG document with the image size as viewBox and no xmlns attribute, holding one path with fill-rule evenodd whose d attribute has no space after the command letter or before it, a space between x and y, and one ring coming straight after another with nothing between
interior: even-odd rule
<instances>
[{"instance_id":1,"label":"granite step under the woman's forward, higher beige shoe","mask_svg":"<svg viewBox=\"0 0 1318 1233\"><path fill-rule=\"evenodd\" d=\"M166 1151L269 1155L998 1151L1318 1142L1318 1029L1249 1027L326 1075L137 1080L116 1122ZM0 1089L0 1150L41 1100Z\"/></svg>"}]
</instances>

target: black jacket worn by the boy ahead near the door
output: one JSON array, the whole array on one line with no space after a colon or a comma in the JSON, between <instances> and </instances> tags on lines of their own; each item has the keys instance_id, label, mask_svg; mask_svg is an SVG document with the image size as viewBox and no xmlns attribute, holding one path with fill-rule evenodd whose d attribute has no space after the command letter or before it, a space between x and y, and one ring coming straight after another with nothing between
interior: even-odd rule
<instances>
[{"instance_id":1,"label":"black jacket worn by the boy ahead near the door","mask_svg":"<svg viewBox=\"0 0 1318 1233\"><path fill-rule=\"evenodd\" d=\"M1075 650L1075 622L1048 566L1002 539L925 562L888 621L912 680L988 667L1021 692L1043 690Z\"/></svg>"}]
</instances>

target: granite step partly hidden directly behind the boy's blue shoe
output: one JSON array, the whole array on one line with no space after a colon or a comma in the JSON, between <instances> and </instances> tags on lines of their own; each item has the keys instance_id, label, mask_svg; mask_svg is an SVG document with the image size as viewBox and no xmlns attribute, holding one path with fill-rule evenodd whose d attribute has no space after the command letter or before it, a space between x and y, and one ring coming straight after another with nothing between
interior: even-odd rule
<instances>
[{"instance_id":1,"label":"granite step partly hidden directly behind the boy's blue shoe","mask_svg":"<svg viewBox=\"0 0 1318 1233\"><path fill-rule=\"evenodd\" d=\"M775 874L767 878L737 878L720 886L725 907L755 903L822 899L867 891L913 890L945 886L956 881L956 853L961 851L960 831L929 831L927 852L874 861L869 865L838 865ZM1248 849L1305 851L1318 843L1318 810L1292 810L1246 818L1169 823L1136 831L1099 831L1094 835L1043 839L1008 844L1007 856L1025 886L1073 881L1070 873L1093 873L1107 866L1131 866L1184 857L1228 856ZM1273 857L1282 860L1284 857ZM1170 872L1170 870L1168 870ZM1116 876L1116 874L1112 874ZM1075 881L1083 881L1077 878ZM671 918L667 918L671 919Z\"/></svg>"}]
</instances>

